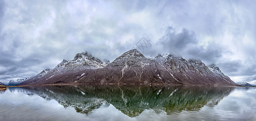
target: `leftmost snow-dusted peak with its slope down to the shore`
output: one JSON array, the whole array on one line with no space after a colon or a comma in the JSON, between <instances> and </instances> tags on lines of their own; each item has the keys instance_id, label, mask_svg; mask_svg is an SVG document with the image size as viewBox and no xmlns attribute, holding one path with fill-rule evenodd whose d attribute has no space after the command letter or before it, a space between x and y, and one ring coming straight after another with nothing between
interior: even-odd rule
<instances>
[{"instance_id":1,"label":"leftmost snow-dusted peak with its slope down to the shore","mask_svg":"<svg viewBox=\"0 0 256 121\"><path fill-rule=\"evenodd\" d=\"M92 70L103 68L108 64L109 60L100 60L86 51L76 54L73 60L64 59L53 69L45 69L19 85L73 83Z\"/></svg>"}]
</instances>

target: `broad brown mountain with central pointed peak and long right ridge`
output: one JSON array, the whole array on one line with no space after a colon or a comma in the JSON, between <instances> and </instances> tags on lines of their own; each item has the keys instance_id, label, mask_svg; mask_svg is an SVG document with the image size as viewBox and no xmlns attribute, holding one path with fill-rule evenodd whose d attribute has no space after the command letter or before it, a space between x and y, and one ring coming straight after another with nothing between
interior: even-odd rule
<instances>
[{"instance_id":1,"label":"broad brown mountain with central pointed peak and long right ridge","mask_svg":"<svg viewBox=\"0 0 256 121\"><path fill-rule=\"evenodd\" d=\"M136 49L125 52L77 83L238 86L214 64L207 67L200 60L187 60L172 54L146 58Z\"/></svg>"}]
</instances>

